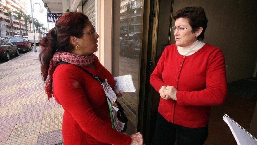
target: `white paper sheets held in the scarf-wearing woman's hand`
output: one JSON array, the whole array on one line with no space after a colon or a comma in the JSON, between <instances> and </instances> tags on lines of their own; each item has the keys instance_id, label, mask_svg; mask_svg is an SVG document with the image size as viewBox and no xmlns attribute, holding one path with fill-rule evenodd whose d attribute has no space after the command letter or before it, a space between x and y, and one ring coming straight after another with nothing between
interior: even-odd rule
<instances>
[{"instance_id":1,"label":"white paper sheets held in the scarf-wearing woman's hand","mask_svg":"<svg viewBox=\"0 0 257 145\"><path fill-rule=\"evenodd\" d=\"M114 77L116 88L122 92L136 92L131 74Z\"/></svg>"}]
</instances>

